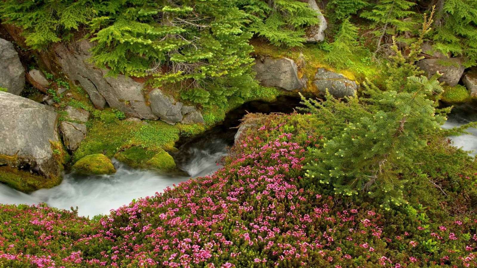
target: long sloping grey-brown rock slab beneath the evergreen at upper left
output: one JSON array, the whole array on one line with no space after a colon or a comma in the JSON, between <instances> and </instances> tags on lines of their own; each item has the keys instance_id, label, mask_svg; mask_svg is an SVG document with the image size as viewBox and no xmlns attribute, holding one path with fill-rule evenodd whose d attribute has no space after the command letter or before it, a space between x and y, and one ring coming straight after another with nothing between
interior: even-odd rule
<instances>
[{"instance_id":1,"label":"long sloping grey-brown rock slab beneath the evergreen at upper left","mask_svg":"<svg viewBox=\"0 0 477 268\"><path fill-rule=\"evenodd\" d=\"M107 70L100 70L89 63L89 50L93 44L87 41L73 45L55 46L58 62L70 80L80 84L89 94L94 106L104 108L106 103L129 116L156 120L151 107L146 104L142 93L143 83L135 82L130 77L104 77Z\"/></svg>"}]
</instances>

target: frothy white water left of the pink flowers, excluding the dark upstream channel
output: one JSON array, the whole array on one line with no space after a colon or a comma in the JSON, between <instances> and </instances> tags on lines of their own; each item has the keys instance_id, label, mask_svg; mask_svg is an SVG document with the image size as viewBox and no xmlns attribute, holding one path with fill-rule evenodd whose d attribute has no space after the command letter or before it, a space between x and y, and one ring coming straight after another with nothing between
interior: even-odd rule
<instances>
[{"instance_id":1,"label":"frothy white water left of the pink flowers, excluding the dark upstream channel","mask_svg":"<svg viewBox=\"0 0 477 268\"><path fill-rule=\"evenodd\" d=\"M111 209L127 205L135 198L154 196L156 192L162 192L168 186L177 185L190 177L217 171L221 167L217 164L218 161L227 155L227 144L222 140L208 140L205 143L200 146L192 144L187 149L190 157L182 169L189 176L133 169L113 159L116 173L112 175L65 174L60 185L30 194L0 184L0 204L47 203L64 209L78 206L80 216L109 214Z\"/></svg>"}]
</instances>

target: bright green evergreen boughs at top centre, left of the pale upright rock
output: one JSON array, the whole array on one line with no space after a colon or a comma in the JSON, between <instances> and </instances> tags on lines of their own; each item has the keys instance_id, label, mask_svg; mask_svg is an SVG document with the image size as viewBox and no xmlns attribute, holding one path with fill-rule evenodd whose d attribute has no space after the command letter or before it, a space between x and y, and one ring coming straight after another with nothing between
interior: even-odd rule
<instances>
[{"instance_id":1,"label":"bright green evergreen boughs at top centre, left of the pale upright rock","mask_svg":"<svg viewBox=\"0 0 477 268\"><path fill-rule=\"evenodd\" d=\"M268 39L276 46L302 46L305 28L319 23L318 13L299 0L239 0L249 14L249 31Z\"/></svg>"}]
</instances>

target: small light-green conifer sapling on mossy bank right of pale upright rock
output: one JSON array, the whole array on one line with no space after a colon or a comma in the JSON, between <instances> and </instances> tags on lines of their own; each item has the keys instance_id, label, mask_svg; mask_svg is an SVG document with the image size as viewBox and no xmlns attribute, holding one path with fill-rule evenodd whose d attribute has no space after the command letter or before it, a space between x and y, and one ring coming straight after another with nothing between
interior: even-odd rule
<instances>
[{"instance_id":1,"label":"small light-green conifer sapling on mossy bank right of pale upright rock","mask_svg":"<svg viewBox=\"0 0 477 268\"><path fill-rule=\"evenodd\" d=\"M332 43L332 50L325 56L325 60L338 68L343 68L353 54L353 47L358 42L358 28L350 22L349 18L343 19L340 30Z\"/></svg>"}]
</instances>

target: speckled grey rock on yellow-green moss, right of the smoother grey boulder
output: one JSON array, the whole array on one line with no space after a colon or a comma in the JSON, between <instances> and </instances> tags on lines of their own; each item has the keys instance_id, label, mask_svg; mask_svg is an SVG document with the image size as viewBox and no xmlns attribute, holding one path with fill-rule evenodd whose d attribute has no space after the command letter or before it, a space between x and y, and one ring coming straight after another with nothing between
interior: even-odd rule
<instances>
[{"instance_id":1,"label":"speckled grey rock on yellow-green moss, right of the smoother grey boulder","mask_svg":"<svg viewBox=\"0 0 477 268\"><path fill-rule=\"evenodd\" d=\"M358 88L356 82L346 78L341 73L331 72L320 68L315 74L313 83L320 95L324 95L326 90L336 98L344 96L355 96Z\"/></svg>"}]
</instances>

